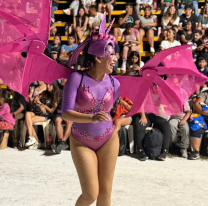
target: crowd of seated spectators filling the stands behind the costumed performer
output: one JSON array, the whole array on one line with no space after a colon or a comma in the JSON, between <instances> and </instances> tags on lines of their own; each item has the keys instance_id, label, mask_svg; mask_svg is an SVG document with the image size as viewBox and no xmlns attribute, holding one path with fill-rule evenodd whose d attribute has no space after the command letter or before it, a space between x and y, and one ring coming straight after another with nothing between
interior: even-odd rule
<instances>
[{"instance_id":1,"label":"crowd of seated spectators filling the stands behind the costumed performer","mask_svg":"<svg viewBox=\"0 0 208 206\"><path fill-rule=\"evenodd\" d=\"M45 53L54 61L66 65L73 51L82 43L83 37L89 35L92 30L99 28L105 10L108 12L107 22L112 21L111 12L115 9L116 0L100 0L97 2L95 0L73 0L69 8L63 10L67 15L73 14L73 21L67 27L66 43L62 42L54 24L54 11L58 10L58 2L58 0L52 0L51 35L54 36L54 40L48 44ZM155 9L159 10L159 7L163 11L161 19L154 15L153 11ZM159 52L182 44L192 45L193 58L199 72L208 76L208 2L205 1L204 6L201 8L201 14L198 12L198 7L198 1L195 0L178 0L177 2L175 0L136 0L135 4L127 3L125 5L126 13L118 17L118 22L115 22L116 26L112 31L112 34L117 39L115 53L117 58L120 59L114 68L114 73L130 76L139 75L145 64L141 61L140 49L143 38L146 36L152 55L156 51ZM182 14L183 9L184 13ZM154 38L157 36L161 41L159 48L155 47ZM79 61L81 59L78 58ZM60 109L65 82L65 79L60 79L52 85L46 85L40 81L34 82L30 87L30 101L27 106L20 94L10 91L15 105L11 112L16 120L12 134L13 147L18 146L20 138L18 122L22 119L24 119L24 124L29 134L29 139L26 143L26 147L29 149L37 149L40 141L33 128L33 123L47 121L48 119L52 119L55 124L59 143L67 144L66 140L70 135L72 123L65 122L65 129L63 128ZM153 123L164 134L161 160L165 160L170 143L174 143L181 149L181 156L184 158L188 157L187 149L191 145L193 151L189 158L199 158L201 137L205 132L205 128L192 132L189 128L188 120L191 116L191 109L198 114L208 116L208 113L203 111L200 106L201 102L208 104L206 88L207 83L193 94L197 95L196 101L191 108L186 102L182 114L160 117L154 114L140 113L135 115L133 119L128 119L128 122L134 126L134 138L140 160L147 159L142 141L146 127L151 126ZM203 92L201 92L202 89ZM0 97L0 114L2 105L7 104L4 100L4 97ZM124 103L124 101L122 104L129 109L128 104ZM116 121L115 125L120 128L126 125L126 122L121 117ZM180 131L180 138L178 138L178 131Z\"/></svg>"}]
</instances>

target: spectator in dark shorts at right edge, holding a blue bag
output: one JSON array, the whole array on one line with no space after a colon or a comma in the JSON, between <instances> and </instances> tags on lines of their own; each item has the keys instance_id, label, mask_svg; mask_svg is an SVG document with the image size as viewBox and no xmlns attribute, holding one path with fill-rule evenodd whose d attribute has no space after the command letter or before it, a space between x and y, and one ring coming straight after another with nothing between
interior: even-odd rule
<instances>
[{"instance_id":1,"label":"spectator in dark shorts at right edge, holding a blue bag","mask_svg":"<svg viewBox=\"0 0 208 206\"><path fill-rule=\"evenodd\" d=\"M197 114L208 116L208 111L203 111L201 102L208 104L208 92L202 92L198 95L196 102L193 105L194 112ZM205 133L206 129L203 127L199 128L198 130L193 131L190 128L190 140L191 140L191 147L193 151L189 155L189 159L196 160L200 158L199 151L201 146L201 139L203 134Z\"/></svg>"}]
</instances>

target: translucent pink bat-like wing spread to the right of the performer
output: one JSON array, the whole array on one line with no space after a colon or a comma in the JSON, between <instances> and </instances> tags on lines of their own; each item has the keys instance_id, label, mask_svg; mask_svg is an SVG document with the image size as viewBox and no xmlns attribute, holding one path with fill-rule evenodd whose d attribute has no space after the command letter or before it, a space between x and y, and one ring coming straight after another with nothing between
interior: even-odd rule
<instances>
[{"instance_id":1,"label":"translucent pink bat-like wing spread to the right of the performer","mask_svg":"<svg viewBox=\"0 0 208 206\"><path fill-rule=\"evenodd\" d=\"M159 67L161 62L164 66ZM159 75L166 75L167 79ZM184 102L208 82L208 78L198 72L190 46L161 51L145 64L141 77L115 78L121 83L119 95L129 97L134 103L128 116L139 112L163 116L181 113Z\"/></svg>"}]
</instances>

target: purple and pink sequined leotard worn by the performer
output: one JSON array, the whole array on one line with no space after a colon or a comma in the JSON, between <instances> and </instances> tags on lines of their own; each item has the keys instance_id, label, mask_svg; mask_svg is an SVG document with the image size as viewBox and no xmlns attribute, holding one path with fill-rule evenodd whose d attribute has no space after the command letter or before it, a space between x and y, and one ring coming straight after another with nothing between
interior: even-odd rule
<instances>
[{"instance_id":1,"label":"purple and pink sequined leotard worn by the performer","mask_svg":"<svg viewBox=\"0 0 208 206\"><path fill-rule=\"evenodd\" d=\"M102 81L97 81L84 72L82 79L82 74L74 72L64 86L62 113L69 110L84 114L96 114L105 111L110 116L110 110L120 89L118 80L111 78L106 75ZM81 81L82 84L80 85ZM92 150L98 150L108 141L113 132L112 121L74 122L72 125L73 137Z\"/></svg>"}]
</instances>

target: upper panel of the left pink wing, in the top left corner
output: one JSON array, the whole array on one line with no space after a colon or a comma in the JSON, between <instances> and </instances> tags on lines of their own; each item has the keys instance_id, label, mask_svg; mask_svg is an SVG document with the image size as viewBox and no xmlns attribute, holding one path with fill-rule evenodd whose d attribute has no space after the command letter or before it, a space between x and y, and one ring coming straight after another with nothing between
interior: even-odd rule
<instances>
[{"instance_id":1,"label":"upper panel of the left pink wing, in the top left corner","mask_svg":"<svg viewBox=\"0 0 208 206\"><path fill-rule=\"evenodd\" d=\"M0 0L0 28L0 47L23 39L47 45L50 0Z\"/></svg>"}]
</instances>

